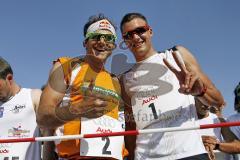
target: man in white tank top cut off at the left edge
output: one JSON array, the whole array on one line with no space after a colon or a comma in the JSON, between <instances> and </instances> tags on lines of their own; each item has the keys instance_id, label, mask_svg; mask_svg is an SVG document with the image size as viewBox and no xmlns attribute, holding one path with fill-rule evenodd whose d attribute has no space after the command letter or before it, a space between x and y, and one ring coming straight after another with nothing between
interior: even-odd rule
<instances>
[{"instance_id":1,"label":"man in white tank top cut off at the left edge","mask_svg":"<svg viewBox=\"0 0 240 160\"><path fill-rule=\"evenodd\" d=\"M40 136L36 111L40 89L23 88L14 80L10 64L0 57L0 126L1 138ZM39 142L0 144L0 159L41 160Z\"/></svg>"}]
</instances>

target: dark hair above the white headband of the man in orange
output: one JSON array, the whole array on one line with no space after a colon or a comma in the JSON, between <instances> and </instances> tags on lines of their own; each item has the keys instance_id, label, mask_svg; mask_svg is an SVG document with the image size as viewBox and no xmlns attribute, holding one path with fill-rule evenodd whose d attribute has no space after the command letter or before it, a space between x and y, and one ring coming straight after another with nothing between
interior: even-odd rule
<instances>
[{"instance_id":1,"label":"dark hair above the white headband of the man in orange","mask_svg":"<svg viewBox=\"0 0 240 160\"><path fill-rule=\"evenodd\" d=\"M103 13L99 13L98 15L93 15L93 16L90 16L90 17L88 18L88 22L84 25L84 28L83 28L83 35L84 35L84 37L85 37L86 34L87 34L87 29L88 29L88 27L89 27L91 24L93 24L93 23L95 23L95 22L97 22L97 21L100 21L100 20L102 20L102 19L108 20L108 21L111 23L111 25L114 27L114 29L117 30L117 27L115 26L115 24L114 24L109 18L107 18Z\"/></svg>"}]
</instances>

